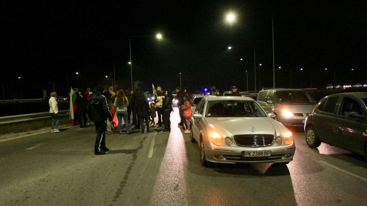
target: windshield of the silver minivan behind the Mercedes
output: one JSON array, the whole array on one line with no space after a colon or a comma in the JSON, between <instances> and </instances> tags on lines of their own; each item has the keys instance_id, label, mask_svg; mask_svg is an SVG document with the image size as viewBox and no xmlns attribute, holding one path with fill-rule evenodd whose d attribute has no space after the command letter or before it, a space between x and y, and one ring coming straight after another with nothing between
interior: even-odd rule
<instances>
[{"instance_id":1,"label":"windshield of the silver minivan behind the Mercedes","mask_svg":"<svg viewBox=\"0 0 367 206\"><path fill-rule=\"evenodd\" d=\"M279 104L313 104L313 99L305 91L277 91L274 101Z\"/></svg>"}]
</instances>

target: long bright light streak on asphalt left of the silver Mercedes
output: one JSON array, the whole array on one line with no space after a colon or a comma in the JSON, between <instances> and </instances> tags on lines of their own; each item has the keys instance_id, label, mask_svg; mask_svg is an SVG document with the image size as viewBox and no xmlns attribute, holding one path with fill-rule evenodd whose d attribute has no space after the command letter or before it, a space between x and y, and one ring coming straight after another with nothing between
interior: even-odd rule
<instances>
[{"instance_id":1,"label":"long bright light streak on asphalt left of the silver Mercedes","mask_svg":"<svg viewBox=\"0 0 367 206\"><path fill-rule=\"evenodd\" d=\"M150 205L188 205L186 168L188 164L185 140L179 123L178 108L171 113L171 132L159 173L150 199Z\"/></svg>"}]
</instances>

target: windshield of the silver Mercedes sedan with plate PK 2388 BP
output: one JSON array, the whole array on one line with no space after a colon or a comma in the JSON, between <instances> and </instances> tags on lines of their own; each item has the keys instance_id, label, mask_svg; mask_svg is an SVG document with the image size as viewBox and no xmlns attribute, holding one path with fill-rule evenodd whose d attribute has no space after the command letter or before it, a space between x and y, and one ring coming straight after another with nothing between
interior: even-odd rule
<instances>
[{"instance_id":1,"label":"windshield of the silver Mercedes sedan with plate PK 2388 BP","mask_svg":"<svg viewBox=\"0 0 367 206\"><path fill-rule=\"evenodd\" d=\"M267 117L255 101L212 100L208 102L206 117Z\"/></svg>"}]
</instances>

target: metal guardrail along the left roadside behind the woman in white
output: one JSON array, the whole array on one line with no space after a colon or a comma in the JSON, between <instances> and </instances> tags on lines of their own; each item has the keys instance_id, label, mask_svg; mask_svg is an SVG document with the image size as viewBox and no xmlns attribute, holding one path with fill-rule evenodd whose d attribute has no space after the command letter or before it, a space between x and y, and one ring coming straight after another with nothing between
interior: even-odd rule
<instances>
[{"instance_id":1,"label":"metal guardrail along the left roadside behind the woman in white","mask_svg":"<svg viewBox=\"0 0 367 206\"><path fill-rule=\"evenodd\" d=\"M69 110L58 111L59 116L69 116ZM51 118L49 112L0 117L0 125Z\"/></svg>"}]
</instances>

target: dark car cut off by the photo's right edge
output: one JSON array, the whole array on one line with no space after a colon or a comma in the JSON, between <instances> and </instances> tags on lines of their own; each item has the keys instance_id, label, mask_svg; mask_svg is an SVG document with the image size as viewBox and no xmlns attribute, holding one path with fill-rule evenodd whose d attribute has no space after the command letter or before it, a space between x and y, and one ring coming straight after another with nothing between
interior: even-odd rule
<instances>
[{"instance_id":1,"label":"dark car cut off by the photo's right edge","mask_svg":"<svg viewBox=\"0 0 367 206\"><path fill-rule=\"evenodd\" d=\"M309 147L322 142L367 158L367 92L325 96L304 124Z\"/></svg>"}]
</instances>

